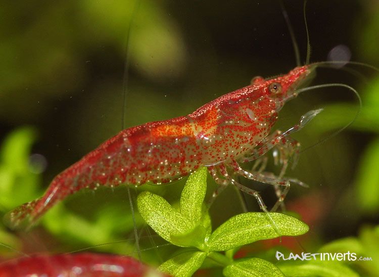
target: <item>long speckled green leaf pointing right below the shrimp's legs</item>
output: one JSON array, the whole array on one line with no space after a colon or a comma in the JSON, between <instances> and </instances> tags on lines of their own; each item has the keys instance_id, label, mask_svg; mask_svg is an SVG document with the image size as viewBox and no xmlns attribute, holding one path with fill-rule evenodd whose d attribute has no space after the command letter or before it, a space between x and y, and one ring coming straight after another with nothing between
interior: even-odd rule
<instances>
[{"instance_id":1,"label":"long speckled green leaf pointing right below the shrimp's legs","mask_svg":"<svg viewBox=\"0 0 379 277\"><path fill-rule=\"evenodd\" d=\"M281 213L270 213L282 236L299 236L309 227L302 221ZM210 251L224 251L259 240L278 237L276 230L263 212L250 212L233 216L211 235Z\"/></svg>"}]
</instances>

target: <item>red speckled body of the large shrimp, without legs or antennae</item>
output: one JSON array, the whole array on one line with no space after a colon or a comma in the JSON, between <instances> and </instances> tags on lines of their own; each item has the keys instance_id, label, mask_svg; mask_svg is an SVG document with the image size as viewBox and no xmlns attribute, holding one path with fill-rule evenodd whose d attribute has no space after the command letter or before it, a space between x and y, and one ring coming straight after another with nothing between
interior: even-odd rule
<instances>
[{"instance_id":1,"label":"red speckled body of the large shrimp, without legs or antennae","mask_svg":"<svg viewBox=\"0 0 379 277\"><path fill-rule=\"evenodd\" d=\"M258 77L187 116L122 130L57 175L41 198L10 212L11 225L26 218L35 221L83 188L168 183L200 166L213 168L242 159L267 137L278 111L296 96L295 89L311 67L267 80Z\"/></svg>"}]
</instances>

